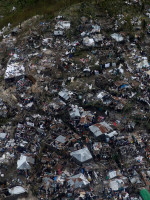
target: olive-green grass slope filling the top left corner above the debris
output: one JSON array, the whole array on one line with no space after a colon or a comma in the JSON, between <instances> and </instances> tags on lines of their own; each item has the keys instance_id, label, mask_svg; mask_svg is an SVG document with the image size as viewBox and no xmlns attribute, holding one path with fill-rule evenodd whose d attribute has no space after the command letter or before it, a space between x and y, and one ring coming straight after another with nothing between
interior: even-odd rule
<instances>
[{"instance_id":1,"label":"olive-green grass slope filling the top left corner above the debris","mask_svg":"<svg viewBox=\"0 0 150 200\"><path fill-rule=\"evenodd\" d=\"M13 26L27 20L35 15L43 15L45 18L52 18L58 11L82 2L82 0L26 0L27 3L21 5L16 4L16 0L2 0L0 3L0 11L4 17L0 20L0 28L8 23ZM16 6L16 11L11 9Z\"/></svg>"}]
</instances>

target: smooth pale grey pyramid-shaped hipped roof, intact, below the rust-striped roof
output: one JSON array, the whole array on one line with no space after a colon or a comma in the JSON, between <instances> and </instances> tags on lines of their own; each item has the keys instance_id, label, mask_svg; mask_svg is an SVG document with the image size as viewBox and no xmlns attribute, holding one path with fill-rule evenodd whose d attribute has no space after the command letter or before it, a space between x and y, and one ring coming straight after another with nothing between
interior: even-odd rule
<instances>
[{"instance_id":1,"label":"smooth pale grey pyramid-shaped hipped roof, intact, below the rust-striped roof","mask_svg":"<svg viewBox=\"0 0 150 200\"><path fill-rule=\"evenodd\" d=\"M71 152L70 155L76 158L79 162L86 162L92 159L92 155L87 147Z\"/></svg>"}]
</instances>

